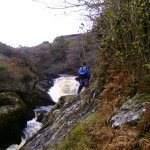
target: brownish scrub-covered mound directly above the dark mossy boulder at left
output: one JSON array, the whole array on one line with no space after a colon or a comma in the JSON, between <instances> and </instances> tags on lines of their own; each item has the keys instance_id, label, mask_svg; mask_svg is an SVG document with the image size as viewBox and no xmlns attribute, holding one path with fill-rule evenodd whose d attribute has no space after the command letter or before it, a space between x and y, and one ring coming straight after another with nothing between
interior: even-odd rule
<instances>
[{"instance_id":1,"label":"brownish scrub-covered mound directly above the dark mossy boulder at left","mask_svg":"<svg viewBox=\"0 0 150 150\"><path fill-rule=\"evenodd\" d=\"M20 67L17 60L0 61L1 88L24 90L26 85L34 78L29 68Z\"/></svg>"}]
</instances>

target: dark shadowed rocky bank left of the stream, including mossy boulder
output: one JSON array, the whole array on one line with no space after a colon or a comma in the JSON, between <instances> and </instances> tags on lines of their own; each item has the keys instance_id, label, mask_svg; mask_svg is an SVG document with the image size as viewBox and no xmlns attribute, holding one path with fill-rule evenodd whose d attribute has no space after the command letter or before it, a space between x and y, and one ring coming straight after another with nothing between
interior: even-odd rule
<instances>
[{"instance_id":1,"label":"dark shadowed rocky bank left of the stream, including mossy boulder","mask_svg":"<svg viewBox=\"0 0 150 150\"><path fill-rule=\"evenodd\" d=\"M40 82L34 89L0 89L0 149L21 142L22 129L34 117L33 109L36 106L55 104L47 93L50 85L48 81L46 83L43 89Z\"/></svg>"}]
</instances>

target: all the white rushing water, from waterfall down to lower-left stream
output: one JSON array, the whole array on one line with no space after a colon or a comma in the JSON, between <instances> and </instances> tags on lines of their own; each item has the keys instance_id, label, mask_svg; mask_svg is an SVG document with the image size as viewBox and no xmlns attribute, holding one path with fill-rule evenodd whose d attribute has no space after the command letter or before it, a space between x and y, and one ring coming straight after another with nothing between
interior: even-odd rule
<instances>
[{"instance_id":1,"label":"all the white rushing water, from waterfall down to lower-left stream","mask_svg":"<svg viewBox=\"0 0 150 150\"><path fill-rule=\"evenodd\" d=\"M79 82L75 80L73 76L61 76L54 80L54 86L51 87L48 91L48 94L51 96L54 102L58 102L61 96L65 95L76 95L79 87ZM48 112L52 106L41 106L36 108L35 114L38 112ZM7 150L19 150L25 142L32 137L38 130L42 127L42 123L36 120L37 118L33 118L32 120L27 122L27 127L23 130L22 142L17 145L11 145L7 148Z\"/></svg>"}]
</instances>

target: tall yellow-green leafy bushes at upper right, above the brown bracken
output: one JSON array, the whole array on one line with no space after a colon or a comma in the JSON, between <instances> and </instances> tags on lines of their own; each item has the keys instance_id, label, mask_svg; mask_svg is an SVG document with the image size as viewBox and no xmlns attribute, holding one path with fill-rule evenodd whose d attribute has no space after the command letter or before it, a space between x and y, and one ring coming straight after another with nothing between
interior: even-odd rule
<instances>
[{"instance_id":1,"label":"tall yellow-green leafy bushes at upper right, above the brown bracken","mask_svg":"<svg viewBox=\"0 0 150 150\"><path fill-rule=\"evenodd\" d=\"M118 65L139 81L147 76L150 73L149 20L147 0L105 1L93 25L93 33L100 41L99 64Z\"/></svg>"}]
</instances>

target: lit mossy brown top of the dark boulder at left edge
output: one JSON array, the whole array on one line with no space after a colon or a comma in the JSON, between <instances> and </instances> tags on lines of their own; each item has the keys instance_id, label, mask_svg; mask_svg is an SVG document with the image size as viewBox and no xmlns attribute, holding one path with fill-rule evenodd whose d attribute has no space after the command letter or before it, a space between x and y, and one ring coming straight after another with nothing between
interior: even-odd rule
<instances>
[{"instance_id":1,"label":"lit mossy brown top of the dark boulder at left edge","mask_svg":"<svg viewBox=\"0 0 150 150\"><path fill-rule=\"evenodd\" d=\"M0 127L9 126L11 122L18 122L19 118L25 116L26 106L16 93L0 93L0 97Z\"/></svg>"}]
</instances>

